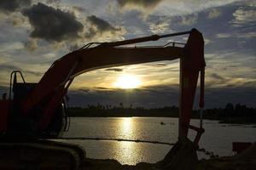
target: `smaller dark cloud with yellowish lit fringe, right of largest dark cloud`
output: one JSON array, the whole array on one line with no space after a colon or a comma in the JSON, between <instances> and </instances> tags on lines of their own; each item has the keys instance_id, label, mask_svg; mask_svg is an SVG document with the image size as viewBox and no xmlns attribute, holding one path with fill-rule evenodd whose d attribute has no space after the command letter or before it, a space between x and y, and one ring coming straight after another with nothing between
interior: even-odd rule
<instances>
[{"instance_id":1,"label":"smaller dark cloud with yellowish lit fringe, right of largest dark cloud","mask_svg":"<svg viewBox=\"0 0 256 170\"><path fill-rule=\"evenodd\" d=\"M101 37L102 39L116 39L125 34L125 28L120 26L112 26L106 20L102 20L95 15L87 17L87 31L85 38L93 39Z\"/></svg>"}]
</instances>

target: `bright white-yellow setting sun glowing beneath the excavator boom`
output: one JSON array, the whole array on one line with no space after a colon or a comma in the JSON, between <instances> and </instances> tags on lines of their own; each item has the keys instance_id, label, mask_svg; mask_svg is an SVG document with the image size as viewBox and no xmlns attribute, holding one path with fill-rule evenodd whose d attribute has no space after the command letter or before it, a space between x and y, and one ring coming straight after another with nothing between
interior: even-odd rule
<instances>
[{"instance_id":1,"label":"bright white-yellow setting sun glowing beneath the excavator boom","mask_svg":"<svg viewBox=\"0 0 256 170\"><path fill-rule=\"evenodd\" d=\"M113 83L115 88L138 88L141 84L137 76L131 74L120 75L118 80Z\"/></svg>"}]
</instances>

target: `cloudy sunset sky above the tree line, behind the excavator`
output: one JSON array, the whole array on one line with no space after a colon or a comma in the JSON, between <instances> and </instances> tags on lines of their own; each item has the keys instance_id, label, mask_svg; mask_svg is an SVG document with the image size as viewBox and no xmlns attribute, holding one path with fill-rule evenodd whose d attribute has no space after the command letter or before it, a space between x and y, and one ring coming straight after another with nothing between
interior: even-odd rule
<instances>
[{"instance_id":1,"label":"cloudy sunset sky above the tree line, behind the excavator","mask_svg":"<svg viewBox=\"0 0 256 170\"><path fill-rule=\"evenodd\" d=\"M38 82L56 59L88 42L192 28L205 40L206 107L230 102L255 108L255 0L0 0L0 93L8 92L11 71L22 71L26 82ZM137 78L136 88L117 86L124 75ZM86 72L75 78L68 95L73 106L122 102L154 108L178 105L178 84L177 59Z\"/></svg>"}]
</instances>

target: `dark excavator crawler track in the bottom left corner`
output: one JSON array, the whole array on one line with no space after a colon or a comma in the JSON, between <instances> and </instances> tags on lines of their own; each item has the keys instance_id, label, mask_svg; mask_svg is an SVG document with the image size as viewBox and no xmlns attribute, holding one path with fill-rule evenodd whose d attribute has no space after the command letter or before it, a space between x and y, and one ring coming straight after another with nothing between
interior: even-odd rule
<instances>
[{"instance_id":1,"label":"dark excavator crawler track in the bottom left corner","mask_svg":"<svg viewBox=\"0 0 256 170\"><path fill-rule=\"evenodd\" d=\"M76 144L53 140L1 142L0 169L77 170L85 151Z\"/></svg>"}]
</instances>

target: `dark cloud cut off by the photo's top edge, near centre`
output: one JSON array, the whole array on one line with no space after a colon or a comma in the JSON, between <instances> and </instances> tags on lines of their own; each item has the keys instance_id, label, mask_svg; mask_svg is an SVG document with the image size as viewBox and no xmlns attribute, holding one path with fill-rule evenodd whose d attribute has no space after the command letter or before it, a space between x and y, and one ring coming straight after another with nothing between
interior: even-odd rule
<instances>
[{"instance_id":1,"label":"dark cloud cut off by the photo's top edge, near centre","mask_svg":"<svg viewBox=\"0 0 256 170\"><path fill-rule=\"evenodd\" d=\"M161 0L117 0L120 7L127 5L137 5L143 8L153 8L161 2Z\"/></svg>"}]
</instances>

